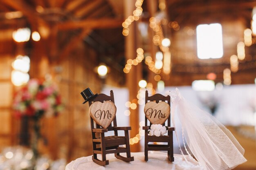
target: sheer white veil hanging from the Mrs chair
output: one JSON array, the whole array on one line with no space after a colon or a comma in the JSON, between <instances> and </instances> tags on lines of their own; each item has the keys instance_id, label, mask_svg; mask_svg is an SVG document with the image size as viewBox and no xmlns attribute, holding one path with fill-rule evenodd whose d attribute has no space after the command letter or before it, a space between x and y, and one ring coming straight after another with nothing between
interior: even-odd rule
<instances>
[{"instance_id":1,"label":"sheer white veil hanging from the Mrs chair","mask_svg":"<svg viewBox=\"0 0 256 170\"><path fill-rule=\"evenodd\" d=\"M174 114L177 108L182 126L182 138L185 137L191 152L204 169L231 170L247 161L243 157L245 150L215 117L186 101L177 88L176 92L171 92L170 95L173 103L171 108L173 126L175 127ZM177 136L176 131L175 133ZM179 139L178 143L180 145ZM186 152L189 154L187 149ZM191 156L190 158L192 159ZM184 159L186 160L185 157Z\"/></svg>"}]
</instances>

